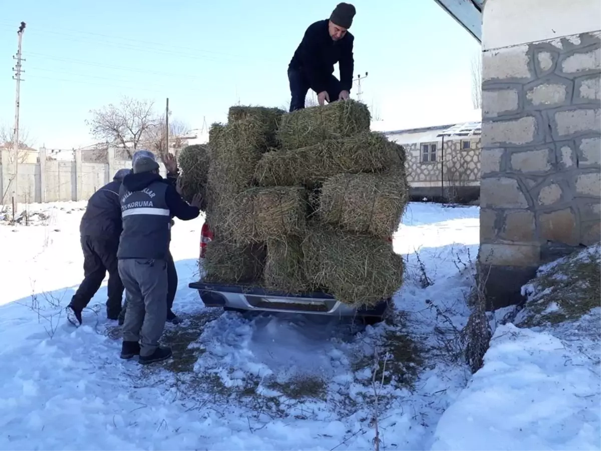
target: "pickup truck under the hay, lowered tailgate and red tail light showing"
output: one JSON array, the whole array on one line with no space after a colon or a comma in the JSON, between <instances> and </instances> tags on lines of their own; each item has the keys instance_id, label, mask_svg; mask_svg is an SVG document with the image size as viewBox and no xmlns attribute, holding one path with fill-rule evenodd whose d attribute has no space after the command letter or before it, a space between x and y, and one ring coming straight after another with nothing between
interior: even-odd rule
<instances>
[{"instance_id":1,"label":"pickup truck under the hay, lowered tailgate and red tail light showing","mask_svg":"<svg viewBox=\"0 0 601 451\"><path fill-rule=\"evenodd\" d=\"M200 237L200 262L205 257L207 244L213 233L205 222ZM202 274L202 271L201 271ZM385 317L391 299L383 299L375 307L353 308L323 292L290 294L245 284L192 282L190 288L198 290L206 307L221 307L230 311L278 311L287 313L320 314L356 318L364 324L376 324Z\"/></svg>"}]
</instances>

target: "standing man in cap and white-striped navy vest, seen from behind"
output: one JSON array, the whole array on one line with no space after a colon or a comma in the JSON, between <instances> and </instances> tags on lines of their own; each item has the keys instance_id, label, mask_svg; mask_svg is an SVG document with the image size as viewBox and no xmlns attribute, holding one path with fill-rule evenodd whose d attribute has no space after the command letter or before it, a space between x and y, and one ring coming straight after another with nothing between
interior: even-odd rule
<instances>
[{"instance_id":1,"label":"standing man in cap and white-striped navy vest, seen from behind","mask_svg":"<svg viewBox=\"0 0 601 451\"><path fill-rule=\"evenodd\" d=\"M171 219L197 218L201 198L192 205L159 175L159 164L148 156L133 163L120 191L123 232L117 251L119 275L127 291L121 358L139 355L142 364L171 357L159 346L167 317L167 259Z\"/></svg>"}]
</instances>

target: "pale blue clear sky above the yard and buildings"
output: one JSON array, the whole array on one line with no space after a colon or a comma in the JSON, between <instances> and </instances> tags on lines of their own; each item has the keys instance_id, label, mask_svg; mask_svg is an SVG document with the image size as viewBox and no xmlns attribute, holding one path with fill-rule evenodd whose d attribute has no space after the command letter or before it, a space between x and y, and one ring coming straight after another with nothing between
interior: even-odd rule
<instances>
[{"instance_id":1,"label":"pale blue clear sky above the yard and buildings","mask_svg":"<svg viewBox=\"0 0 601 451\"><path fill-rule=\"evenodd\" d=\"M0 17L0 124L14 120L11 68L17 28L25 74L21 123L35 146L94 142L90 109L122 95L152 99L191 128L224 120L228 106L281 106L287 65L310 23L337 1L20 0ZM479 46L433 0L355 0L355 72L363 100L399 128L440 123L472 108ZM335 72L338 76L338 71ZM356 93L356 88L352 95ZM461 120L458 118L458 120Z\"/></svg>"}]
</instances>

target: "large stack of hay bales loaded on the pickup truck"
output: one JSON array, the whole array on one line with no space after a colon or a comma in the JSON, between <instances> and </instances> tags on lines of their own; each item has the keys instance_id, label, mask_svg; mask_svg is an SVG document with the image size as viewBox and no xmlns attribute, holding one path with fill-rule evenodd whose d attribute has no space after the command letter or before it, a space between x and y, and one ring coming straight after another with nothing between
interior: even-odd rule
<instances>
[{"instance_id":1,"label":"large stack of hay bales loaded on the pickup truck","mask_svg":"<svg viewBox=\"0 0 601 451\"><path fill-rule=\"evenodd\" d=\"M392 296L403 281L389 239L407 204L405 155L370 120L353 100L290 114L231 108L210 135L207 278L352 305Z\"/></svg>"}]
</instances>

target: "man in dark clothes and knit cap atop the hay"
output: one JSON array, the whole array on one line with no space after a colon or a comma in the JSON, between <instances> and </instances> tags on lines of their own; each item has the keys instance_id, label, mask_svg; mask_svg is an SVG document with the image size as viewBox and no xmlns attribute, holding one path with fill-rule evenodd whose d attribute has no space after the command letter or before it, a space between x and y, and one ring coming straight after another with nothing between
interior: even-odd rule
<instances>
[{"instance_id":1,"label":"man in dark clothes and knit cap atop the hay","mask_svg":"<svg viewBox=\"0 0 601 451\"><path fill-rule=\"evenodd\" d=\"M355 17L355 7L339 3L329 19L319 20L307 28L288 65L290 111L305 108L311 88L319 105L349 98L353 85L353 41L348 31ZM334 64L340 66L340 81L334 76Z\"/></svg>"}]
</instances>

